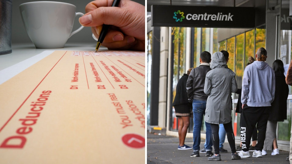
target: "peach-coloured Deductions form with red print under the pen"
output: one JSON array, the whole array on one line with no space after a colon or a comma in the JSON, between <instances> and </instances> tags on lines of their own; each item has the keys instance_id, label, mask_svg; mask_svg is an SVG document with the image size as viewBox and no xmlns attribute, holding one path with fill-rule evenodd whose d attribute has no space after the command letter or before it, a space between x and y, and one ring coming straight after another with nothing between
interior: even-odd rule
<instances>
[{"instance_id":1,"label":"peach-coloured Deductions form with red print under the pen","mask_svg":"<svg viewBox=\"0 0 292 164\"><path fill-rule=\"evenodd\" d=\"M0 154L1 164L144 163L145 53L54 51L2 83Z\"/></svg>"}]
</instances>

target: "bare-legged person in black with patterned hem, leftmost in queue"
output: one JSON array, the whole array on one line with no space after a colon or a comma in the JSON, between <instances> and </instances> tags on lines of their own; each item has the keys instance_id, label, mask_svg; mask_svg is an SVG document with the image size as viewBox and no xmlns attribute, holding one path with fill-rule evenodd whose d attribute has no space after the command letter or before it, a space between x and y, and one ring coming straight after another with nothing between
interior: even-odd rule
<instances>
[{"instance_id":1,"label":"bare-legged person in black with patterned hem, leftmost in queue","mask_svg":"<svg viewBox=\"0 0 292 164\"><path fill-rule=\"evenodd\" d=\"M185 145L186 133L189 128L189 117L193 117L192 103L188 101L186 92L186 81L188 80L189 73L193 68L184 73L176 85L176 97L172 105L176 111L176 117L179 118L179 146L178 150L189 150L192 147Z\"/></svg>"}]
</instances>

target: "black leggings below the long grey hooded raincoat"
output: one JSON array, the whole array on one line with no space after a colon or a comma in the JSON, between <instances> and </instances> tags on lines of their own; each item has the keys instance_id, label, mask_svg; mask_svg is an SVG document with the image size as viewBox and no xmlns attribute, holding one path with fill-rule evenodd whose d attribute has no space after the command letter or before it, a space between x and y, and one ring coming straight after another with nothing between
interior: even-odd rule
<instances>
[{"instance_id":1,"label":"black leggings below the long grey hooded raincoat","mask_svg":"<svg viewBox=\"0 0 292 164\"><path fill-rule=\"evenodd\" d=\"M234 133L232 129L232 121L223 125L227 134L227 139L231 148L231 152L235 153L236 149L235 149ZM214 151L215 151L215 154L219 154L219 125L210 123L210 126L212 130L212 142L214 146Z\"/></svg>"}]
</instances>

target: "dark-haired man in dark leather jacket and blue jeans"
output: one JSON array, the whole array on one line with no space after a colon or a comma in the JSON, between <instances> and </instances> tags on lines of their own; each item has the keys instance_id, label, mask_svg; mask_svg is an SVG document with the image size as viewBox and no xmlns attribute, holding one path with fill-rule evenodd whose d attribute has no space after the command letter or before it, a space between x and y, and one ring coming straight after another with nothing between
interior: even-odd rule
<instances>
[{"instance_id":1,"label":"dark-haired man in dark leather jacket and blue jeans","mask_svg":"<svg viewBox=\"0 0 292 164\"><path fill-rule=\"evenodd\" d=\"M208 95L204 93L206 74L211 70L210 68L211 54L204 51L200 54L200 65L194 68L189 74L188 81L186 82L186 91L188 94L189 102L193 103L194 127L193 127L193 154L191 157L199 157L200 143L201 143L201 127L203 115L206 110L206 102ZM211 127L210 124L205 122L206 125L206 156L212 156L211 141Z\"/></svg>"}]
</instances>

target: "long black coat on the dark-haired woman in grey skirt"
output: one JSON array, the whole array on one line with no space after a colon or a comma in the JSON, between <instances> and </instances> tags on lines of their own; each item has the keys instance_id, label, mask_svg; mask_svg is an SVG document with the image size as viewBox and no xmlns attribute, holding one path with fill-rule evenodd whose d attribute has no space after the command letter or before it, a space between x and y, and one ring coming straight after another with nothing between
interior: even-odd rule
<instances>
[{"instance_id":1,"label":"long black coat on the dark-haired woman in grey skirt","mask_svg":"<svg viewBox=\"0 0 292 164\"><path fill-rule=\"evenodd\" d=\"M287 119L287 98L289 87L286 84L284 74L275 73L275 99L272 102L269 121L283 121Z\"/></svg>"}]
</instances>

